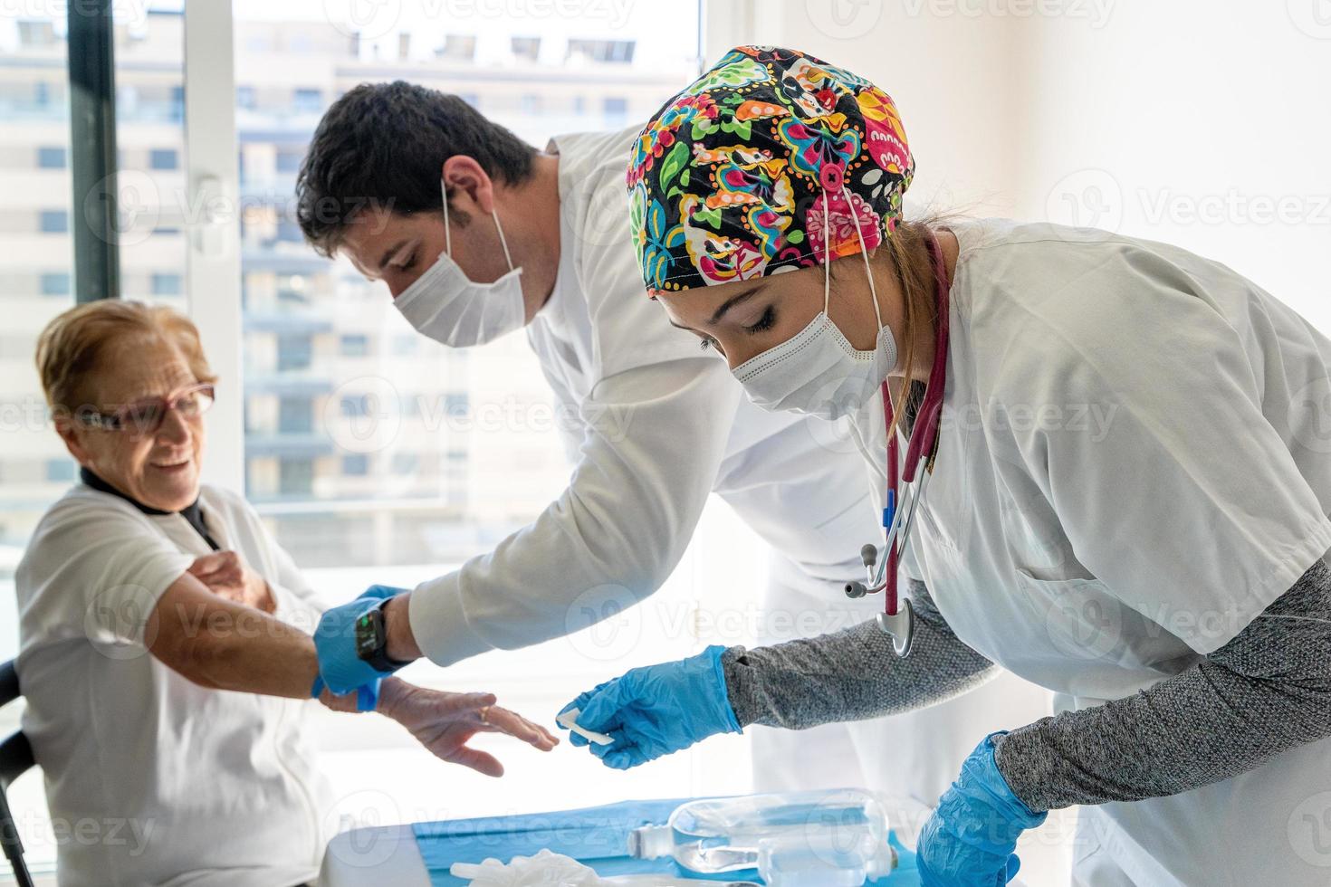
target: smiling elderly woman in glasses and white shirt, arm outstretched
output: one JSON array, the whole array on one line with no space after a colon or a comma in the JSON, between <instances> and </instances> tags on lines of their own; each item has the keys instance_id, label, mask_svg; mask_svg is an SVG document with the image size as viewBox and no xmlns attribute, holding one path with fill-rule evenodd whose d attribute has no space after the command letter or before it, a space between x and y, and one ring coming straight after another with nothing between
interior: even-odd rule
<instances>
[{"instance_id":1,"label":"smiling elderly woman in glasses and white shirt, arm outstretched","mask_svg":"<svg viewBox=\"0 0 1331 887\"><path fill-rule=\"evenodd\" d=\"M254 511L200 483L216 379L198 332L164 307L83 305L43 332L37 368L83 467L17 572L60 883L311 880L333 806L305 729L323 606ZM494 702L389 680L377 710L488 775L503 767L467 747L478 731L554 746Z\"/></svg>"}]
</instances>

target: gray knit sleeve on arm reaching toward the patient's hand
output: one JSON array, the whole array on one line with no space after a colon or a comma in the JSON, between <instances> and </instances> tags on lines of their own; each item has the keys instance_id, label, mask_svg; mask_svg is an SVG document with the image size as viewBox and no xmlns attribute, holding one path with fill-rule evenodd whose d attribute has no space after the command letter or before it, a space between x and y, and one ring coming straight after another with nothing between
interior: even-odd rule
<instances>
[{"instance_id":1,"label":"gray knit sleeve on arm reaching toward the patient's hand","mask_svg":"<svg viewBox=\"0 0 1331 887\"><path fill-rule=\"evenodd\" d=\"M869 620L833 634L721 657L740 726L803 730L832 721L918 709L950 699L996 674L989 660L957 640L922 582L910 582L914 645L898 658L892 638Z\"/></svg>"}]
</instances>

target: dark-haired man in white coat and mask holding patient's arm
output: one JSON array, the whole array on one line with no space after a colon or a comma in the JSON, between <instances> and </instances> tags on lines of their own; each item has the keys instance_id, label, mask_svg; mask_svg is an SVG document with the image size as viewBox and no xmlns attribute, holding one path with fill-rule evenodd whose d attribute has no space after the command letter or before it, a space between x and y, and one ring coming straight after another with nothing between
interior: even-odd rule
<instances>
[{"instance_id":1,"label":"dark-haired man in white coat and mask holding patient's arm","mask_svg":"<svg viewBox=\"0 0 1331 887\"><path fill-rule=\"evenodd\" d=\"M586 625L570 613L604 617L646 598L713 491L772 549L764 605L776 616L760 620L763 642L844 628L881 605L843 593L864 572L860 547L881 537L853 448L817 419L752 407L725 362L646 298L624 195L639 129L538 152L462 98L401 81L351 89L319 122L295 186L311 246L383 281L413 327L446 346L526 327L583 426L568 488L535 523L411 592L371 589L333 610L342 621L326 620L317 640L334 690L422 656L447 666L538 644ZM755 727L755 783L864 785L932 806L976 735L1046 707L1044 692L1005 676L908 715Z\"/></svg>"}]
</instances>

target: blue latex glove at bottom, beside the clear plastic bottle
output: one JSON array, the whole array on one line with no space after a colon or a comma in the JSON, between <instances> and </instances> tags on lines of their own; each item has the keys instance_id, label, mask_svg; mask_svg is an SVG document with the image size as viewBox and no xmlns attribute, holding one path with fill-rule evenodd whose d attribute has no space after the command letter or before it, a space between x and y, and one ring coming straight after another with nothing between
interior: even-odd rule
<instances>
[{"instance_id":1,"label":"blue latex glove at bottom, beside the clear plastic bottle","mask_svg":"<svg viewBox=\"0 0 1331 887\"><path fill-rule=\"evenodd\" d=\"M920 832L917 864L924 887L1002 887L1017 875L1013 851L1026 828L1045 822L1008 787L994 761L993 738L976 746Z\"/></svg>"}]
</instances>

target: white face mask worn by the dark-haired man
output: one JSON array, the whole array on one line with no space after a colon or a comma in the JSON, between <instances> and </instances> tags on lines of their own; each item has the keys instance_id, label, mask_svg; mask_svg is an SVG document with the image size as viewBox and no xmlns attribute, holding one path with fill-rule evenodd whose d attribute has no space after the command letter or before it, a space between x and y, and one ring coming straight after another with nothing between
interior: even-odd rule
<instances>
[{"instance_id":1,"label":"white face mask worn by the dark-haired man","mask_svg":"<svg viewBox=\"0 0 1331 887\"><path fill-rule=\"evenodd\" d=\"M453 261L453 235L449 231L449 193L443 194L445 251L411 286L403 290L393 305L402 317L427 335L455 348L494 342L506 332L520 330L527 322L527 306L522 298L522 269L512 266L508 242L504 241L499 215L490 215L499 231L508 273L494 283L475 283Z\"/></svg>"}]
</instances>

